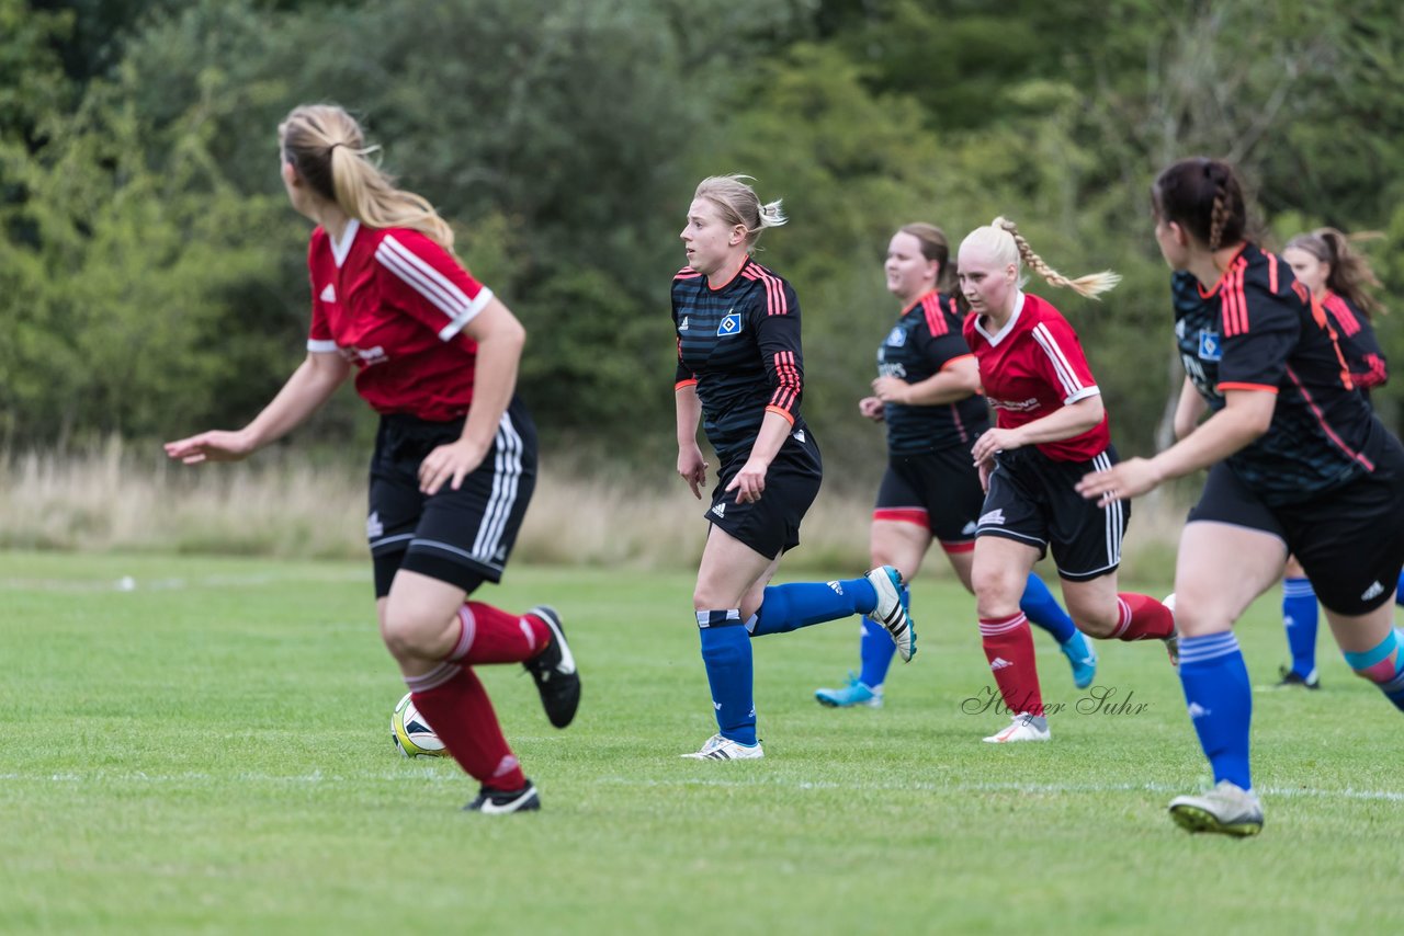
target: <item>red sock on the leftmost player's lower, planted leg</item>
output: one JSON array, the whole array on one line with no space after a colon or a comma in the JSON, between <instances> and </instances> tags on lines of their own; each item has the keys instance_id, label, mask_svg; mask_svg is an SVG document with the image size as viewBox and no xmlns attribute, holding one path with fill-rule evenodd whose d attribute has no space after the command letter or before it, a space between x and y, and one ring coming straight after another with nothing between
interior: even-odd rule
<instances>
[{"instance_id":1,"label":"red sock on the leftmost player's lower, planted leg","mask_svg":"<svg viewBox=\"0 0 1404 936\"><path fill-rule=\"evenodd\" d=\"M414 689L414 707L470 777L494 790L526 786L517 755L497 724L493 702L472 669L445 662L439 669L406 682L413 689L416 682L432 683L445 675L449 678L432 689Z\"/></svg>"}]
</instances>

